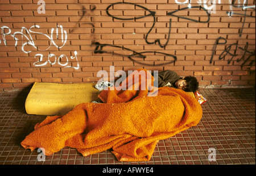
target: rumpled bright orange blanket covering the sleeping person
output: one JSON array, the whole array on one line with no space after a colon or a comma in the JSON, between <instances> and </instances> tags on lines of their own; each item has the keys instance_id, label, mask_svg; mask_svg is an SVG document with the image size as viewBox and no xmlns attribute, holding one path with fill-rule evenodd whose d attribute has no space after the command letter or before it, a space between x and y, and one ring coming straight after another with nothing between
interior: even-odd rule
<instances>
[{"instance_id":1,"label":"rumpled bright orange blanket covering the sleeping person","mask_svg":"<svg viewBox=\"0 0 256 176\"><path fill-rule=\"evenodd\" d=\"M126 86L141 87L143 79L154 80L148 76ZM197 125L202 116L200 104L183 90L161 87L150 97L151 86L104 90L99 97L106 103L81 103L66 115L48 116L21 145L44 148L46 155L65 146L83 156L112 148L119 161L148 161L159 140Z\"/></svg>"}]
</instances>

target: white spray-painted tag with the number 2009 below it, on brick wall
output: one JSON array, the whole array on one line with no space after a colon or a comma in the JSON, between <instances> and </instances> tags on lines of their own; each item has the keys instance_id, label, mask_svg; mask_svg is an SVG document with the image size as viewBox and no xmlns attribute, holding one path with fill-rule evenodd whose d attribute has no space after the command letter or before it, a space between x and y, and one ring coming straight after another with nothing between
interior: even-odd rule
<instances>
[{"instance_id":1,"label":"white spray-painted tag with the number 2009 below it, on brick wall","mask_svg":"<svg viewBox=\"0 0 256 176\"><path fill-rule=\"evenodd\" d=\"M24 53L30 53L32 51L47 51L52 46L56 48L62 48L67 43L67 31L64 30L63 26L58 25L57 28L52 28L51 33L47 35L46 33L42 32L36 32L35 29L40 28L38 25L31 26L29 29L26 27L22 27L20 31L11 33L11 29L7 26L1 27L2 31L2 40L5 45L7 45L6 42L6 36L9 35L13 37L15 40L15 47L18 47L19 40L21 41L21 49ZM32 37L32 35L43 35L46 40L49 41L49 46L47 46L46 49L42 49L42 46L36 45L36 41ZM1 44L0 39L0 44ZM38 58L39 60L34 62L35 66L43 66L47 63L54 65L59 64L61 66L64 66L65 68L75 68L79 69L79 62L77 60L77 51L74 52L75 56L71 56L71 60L75 60L76 66L69 65L69 59L65 55L61 55L58 58L56 58L56 55L54 53L49 53L48 56L43 56L41 53L37 53L35 55L35 58ZM53 60L53 61L52 61ZM65 60L63 64L63 60Z\"/></svg>"}]
</instances>

